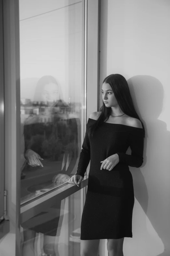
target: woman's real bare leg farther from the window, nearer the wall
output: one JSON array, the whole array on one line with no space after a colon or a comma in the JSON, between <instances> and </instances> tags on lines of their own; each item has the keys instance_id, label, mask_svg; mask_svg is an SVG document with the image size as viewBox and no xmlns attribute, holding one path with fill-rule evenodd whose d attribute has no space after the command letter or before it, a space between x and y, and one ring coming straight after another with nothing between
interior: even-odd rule
<instances>
[{"instance_id":1,"label":"woman's real bare leg farther from the window, nearer the wall","mask_svg":"<svg viewBox=\"0 0 170 256\"><path fill-rule=\"evenodd\" d=\"M123 256L123 241L120 239L107 239L108 256Z\"/></svg>"}]
</instances>

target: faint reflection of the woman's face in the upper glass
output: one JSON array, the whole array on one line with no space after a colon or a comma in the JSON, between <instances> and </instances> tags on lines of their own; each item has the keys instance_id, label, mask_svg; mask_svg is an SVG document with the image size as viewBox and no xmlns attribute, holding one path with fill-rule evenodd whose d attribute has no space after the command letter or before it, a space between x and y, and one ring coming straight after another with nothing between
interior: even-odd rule
<instances>
[{"instance_id":1,"label":"faint reflection of the woman's face in the upper glass","mask_svg":"<svg viewBox=\"0 0 170 256\"><path fill-rule=\"evenodd\" d=\"M50 83L44 86L42 91L43 101L53 103L59 100L59 88L57 84Z\"/></svg>"}]
</instances>

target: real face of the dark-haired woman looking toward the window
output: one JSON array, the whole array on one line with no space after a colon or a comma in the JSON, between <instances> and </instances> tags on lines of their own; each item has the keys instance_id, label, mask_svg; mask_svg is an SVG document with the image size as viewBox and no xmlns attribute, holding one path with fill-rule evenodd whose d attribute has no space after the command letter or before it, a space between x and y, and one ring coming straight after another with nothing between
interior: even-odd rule
<instances>
[{"instance_id":1,"label":"real face of the dark-haired woman looking toward the window","mask_svg":"<svg viewBox=\"0 0 170 256\"><path fill-rule=\"evenodd\" d=\"M105 82L103 83L103 86L102 86L102 98L103 98L104 103L105 103L105 101L107 101L107 103L105 103L105 106L107 108L118 106L117 99L115 98L115 95L112 91L111 86Z\"/></svg>"}]
</instances>

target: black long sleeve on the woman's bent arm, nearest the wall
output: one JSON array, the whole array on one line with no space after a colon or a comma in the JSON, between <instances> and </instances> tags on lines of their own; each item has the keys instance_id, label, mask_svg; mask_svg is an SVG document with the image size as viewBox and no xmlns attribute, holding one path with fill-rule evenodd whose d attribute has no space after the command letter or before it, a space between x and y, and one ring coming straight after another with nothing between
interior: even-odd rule
<instances>
[{"instance_id":1,"label":"black long sleeve on the woman's bent arm, nearest the wall","mask_svg":"<svg viewBox=\"0 0 170 256\"><path fill-rule=\"evenodd\" d=\"M143 129L136 128L129 131L128 136L129 145L131 148L131 155L126 153L117 153L119 155L119 162L123 162L133 167L140 167L143 163L143 149L144 149L144 133Z\"/></svg>"}]
</instances>

